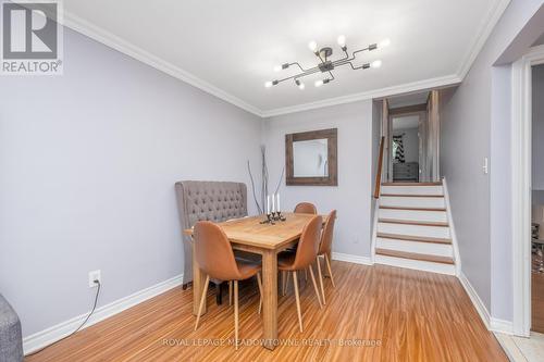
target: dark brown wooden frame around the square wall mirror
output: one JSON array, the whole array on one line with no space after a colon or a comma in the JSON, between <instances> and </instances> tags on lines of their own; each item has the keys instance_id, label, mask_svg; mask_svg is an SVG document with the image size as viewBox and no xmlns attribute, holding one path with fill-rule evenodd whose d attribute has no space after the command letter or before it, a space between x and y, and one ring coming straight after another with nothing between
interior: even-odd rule
<instances>
[{"instance_id":1,"label":"dark brown wooden frame around the square wall mirror","mask_svg":"<svg viewBox=\"0 0 544 362\"><path fill-rule=\"evenodd\" d=\"M312 139L327 140L327 177L295 177L293 142ZM338 129L320 129L285 135L285 184L287 186L338 186Z\"/></svg>"}]
</instances>

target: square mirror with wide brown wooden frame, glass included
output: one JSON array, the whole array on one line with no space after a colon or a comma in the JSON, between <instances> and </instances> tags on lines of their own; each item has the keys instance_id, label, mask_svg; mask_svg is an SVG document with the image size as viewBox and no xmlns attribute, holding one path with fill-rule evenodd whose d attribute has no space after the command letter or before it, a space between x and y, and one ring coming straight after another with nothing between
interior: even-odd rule
<instances>
[{"instance_id":1,"label":"square mirror with wide brown wooden frame, glass included","mask_svg":"<svg viewBox=\"0 0 544 362\"><path fill-rule=\"evenodd\" d=\"M287 186L337 186L337 128L285 135Z\"/></svg>"}]
</instances>

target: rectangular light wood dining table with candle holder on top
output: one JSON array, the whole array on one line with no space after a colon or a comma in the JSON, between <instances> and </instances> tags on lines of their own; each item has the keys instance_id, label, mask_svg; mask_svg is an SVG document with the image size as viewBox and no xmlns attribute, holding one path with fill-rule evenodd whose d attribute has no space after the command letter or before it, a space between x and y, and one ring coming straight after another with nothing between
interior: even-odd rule
<instances>
[{"instance_id":1,"label":"rectangular light wood dining table with candle holder on top","mask_svg":"<svg viewBox=\"0 0 544 362\"><path fill-rule=\"evenodd\" d=\"M273 350L277 345L277 253L298 242L311 214L284 213L285 221L261 224L265 215L250 216L219 223L233 249L262 255L262 317L263 347ZM323 223L326 216L323 216ZM193 229L185 229L193 235ZM206 274L195 258L193 244L193 314L198 314L198 304L203 291ZM202 313L206 313L206 304Z\"/></svg>"}]
</instances>

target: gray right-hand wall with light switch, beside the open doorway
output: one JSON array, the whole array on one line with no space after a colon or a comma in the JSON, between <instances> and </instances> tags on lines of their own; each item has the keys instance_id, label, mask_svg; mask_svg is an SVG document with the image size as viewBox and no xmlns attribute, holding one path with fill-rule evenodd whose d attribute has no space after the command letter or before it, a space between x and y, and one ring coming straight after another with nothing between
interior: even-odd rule
<instances>
[{"instance_id":1,"label":"gray right-hand wall with light switch, beside the open doorway","mask_svg":"<svg viewBox=\"0 0 544 362\"><path fill-rule=\"evenodd\" d=\"M512 0L463 83L442 93L441 168L449 187L462 272L491 314L508 321L512 315L510 70L494 64L542 3ZM485 157L489 175L482 172Z\"/></svg>"}]
</instances>

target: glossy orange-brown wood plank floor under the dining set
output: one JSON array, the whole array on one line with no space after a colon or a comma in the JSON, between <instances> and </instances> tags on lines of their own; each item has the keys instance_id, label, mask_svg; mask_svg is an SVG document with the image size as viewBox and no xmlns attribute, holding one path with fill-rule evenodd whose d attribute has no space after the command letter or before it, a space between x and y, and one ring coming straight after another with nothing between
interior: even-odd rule
<instances>
[{"instance_id":1,"label":"glossy orange-brown wood plank floor under the dining set","mask_svg":"<svg viewBox=\"0 0 544 362\"><path fill-rule=\"evenodd\" d=\"M280 297L282 345L274 351L252 345L262 323L257 284L248 283L240 289L239 336L247 344L238 351L228 345L233 307L215 305L210 294L194 332L191 290L175 288L26 361L507 361L457 278L337 261L333 271L336 288L325 280L323 310L311 283L301 280L304 333L293 290Z\"/></svg>"}]
</instances>

